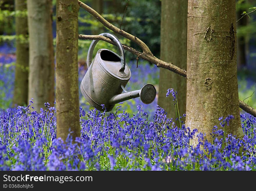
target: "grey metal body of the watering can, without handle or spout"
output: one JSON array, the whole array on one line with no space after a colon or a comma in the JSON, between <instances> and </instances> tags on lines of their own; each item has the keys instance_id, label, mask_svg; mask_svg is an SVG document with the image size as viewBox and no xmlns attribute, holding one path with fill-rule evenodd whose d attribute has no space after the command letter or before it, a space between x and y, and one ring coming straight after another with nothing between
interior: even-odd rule
<instances>
[{"instance_id":1,"label":"grey metal body of the watering can, without handle or spout","mask_svg":"<svg viewBox=\"0 0 256 191\"><path fill-rule=\"evenodd\" d=\"M106 55L108 54L108 55ZM131 71L126 65L123 76L119 73L120 56L108 49L99 49L90 64L80 85L83 97L98 110L111 111L115 103L109 102L113 95L121 94L122 86L126 86Z\"/></svg>"}]
</instances>

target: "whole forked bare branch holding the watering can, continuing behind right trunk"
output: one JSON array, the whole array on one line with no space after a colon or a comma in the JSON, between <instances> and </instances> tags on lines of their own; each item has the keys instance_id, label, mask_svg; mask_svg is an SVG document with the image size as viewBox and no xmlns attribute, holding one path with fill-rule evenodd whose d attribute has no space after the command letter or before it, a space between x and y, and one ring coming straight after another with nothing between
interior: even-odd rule
<instances>
[{"instance_id":1,"label":"whole forked bare branch holding the watering can, continuing behind right trunk","mask_svg":"<svg viewBox=\"0 0 256 191\"><path fill-rule=\"evenodd\" d=\"M152 54L150 49L147 47L147 45L143 41L141 41L137 37L125 32L125 31L120 30L119 28L113 26L111 23L106 21L99 13L97 13L95 10L93 10L92 8L87 6L86 4L82 3L81 1L78 1L78 3L79 3L81 8L83 8L84 10L86 10L90 14L92 14L104 26L106 26L110 30L112 30L112 31L120 34L121 36L123 36L123 37L135 42L136 44L138 44L138 46L141 47L143 52L139 52L138 50L135 50L134 48L131 48L131 47L126 46L126 45L122 45L125 50L128 50L129 52L135 54L136 56L138 56L138 57L140 57L144 60L147 60L150 63L153 63L153 64L157 65L157 67L165 68L165 69L170 70L172 72L175 72L176 74L179 74L179 75L181 75L185 78L187 77L186 70L183 70L183 69L173 65L172 63L168 63L168 62L165 62L161 59L158 59L157 57L155 57ZM113 41L111 41L109 38L103 37L101 35L83 35L83 34L79 34L78 38L83 39L83 40L102 40L102 41L105 41L105 42L108 42L110 44L115 45L115 43ZM244 110L245 112L247 112L247 113L253 115L254 117L256 117L256 110L254 108L250 107L249 105L247 105L246 103L244 103L243 101L241 101L240 99L239 99L239 107L242 110Z\"/></svg>"}]
</instances>

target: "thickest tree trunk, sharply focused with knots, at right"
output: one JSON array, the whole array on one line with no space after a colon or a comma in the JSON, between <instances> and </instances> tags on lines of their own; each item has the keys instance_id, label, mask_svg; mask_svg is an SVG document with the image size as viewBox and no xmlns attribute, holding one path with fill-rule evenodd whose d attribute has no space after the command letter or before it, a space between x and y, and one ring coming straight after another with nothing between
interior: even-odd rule
<instances>
[{"instance_id":1,"label":"thickest tree trunk, sharply focused with knots, at right","mask_svg":"<svg viewBox=\"0 0 256 191\"><path fill-rule=\"evenodd\" d=\"M189 0L186 127L211 141L219 117L233 115L223 130L241 138L234 0Z\"/></svg>"}]
</instances>

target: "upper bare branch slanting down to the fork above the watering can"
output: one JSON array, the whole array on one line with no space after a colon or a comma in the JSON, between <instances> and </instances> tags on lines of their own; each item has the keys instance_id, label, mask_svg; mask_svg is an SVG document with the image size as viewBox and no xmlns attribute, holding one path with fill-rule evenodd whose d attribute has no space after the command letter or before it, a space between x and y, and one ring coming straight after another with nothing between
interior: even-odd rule
<instances>
[{"instance_id":1,"label":"upper bare branch slanting down to the fork above the watering can","mask_svg":"<svg viewBox=\"0 0 256 191\"><path fill-rule=\"evenodd\" d=\"M84 10L86 10L87 12L92 14L93 17L95 17L99 22L101 22L105 27L107 27L110 30L113 30L114 32L122 35L123 37L135 42L136 44L138 44L138 46L141 47L141 49L143 50L144 53L152 55L152 52L147 47L147 45L143 41L141 41L139 38L137 38L137 37L129 34L128 32L125 32L125 31L121 30L120 28L117 28L116 26L112 25L106 19L104 19L99 13L97 13L94 9L90 8L85 3L81 2L81 1L78 1L78 3L79 3L79 6L81 8L83 8Z\"/></svg>"}]
</instances>

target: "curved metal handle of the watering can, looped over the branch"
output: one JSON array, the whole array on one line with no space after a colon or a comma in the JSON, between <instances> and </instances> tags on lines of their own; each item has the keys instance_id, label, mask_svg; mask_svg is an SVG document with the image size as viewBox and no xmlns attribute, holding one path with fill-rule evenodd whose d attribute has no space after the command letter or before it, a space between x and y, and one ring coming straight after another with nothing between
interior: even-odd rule
<instances>
[{"instance_id":1,"label":"curved metal handle of the watering can, looped over the branch","mask_svg":"<svg viewBox=\"0 0 256 191\"><path fill-rule=\"evenodd\" d=\"M110 33L107 33L107 32L104 32L104 33L101 33L99 35L102 35L104 37L108 37L109 39L113 40L119 51L120 51L120 59L121 59L121 68L119 70L119 72L124 72L125 70L125 51L124 51L124 48L121 44L121 42L118 40L118 38L113 35L113 34L110 34ZM88 50L88 55L87 55L87 60L86 60L86 63L87 63L87 67L89 68L90 64L92 63L92 57L93 57L93 50L97 44L99 40L93 40L93 42L91 43L90 47L89 47L89 50Z\"/></svg>"}]
</instances>

